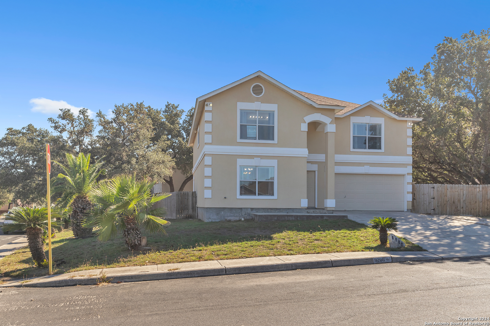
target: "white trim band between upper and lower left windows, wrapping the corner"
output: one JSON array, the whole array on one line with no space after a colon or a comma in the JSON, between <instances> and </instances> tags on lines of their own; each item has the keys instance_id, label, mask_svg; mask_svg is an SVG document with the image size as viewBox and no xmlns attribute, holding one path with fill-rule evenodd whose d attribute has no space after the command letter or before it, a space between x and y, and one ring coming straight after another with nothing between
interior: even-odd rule
<instances>
[{"instance_id":1,"label":"white trim band between upper and lower left windows, wrapping the corner","mask_svg":"<svg viewBox=\"0 0 490 326\"><path fill-rule=\"evenodd\" d=\"M193 174L205 154L308 157L308 149L286 147L204 145L199 157L197 158L196 164L192 169Z\"/></svg>"}]
</instances>

